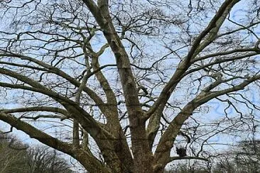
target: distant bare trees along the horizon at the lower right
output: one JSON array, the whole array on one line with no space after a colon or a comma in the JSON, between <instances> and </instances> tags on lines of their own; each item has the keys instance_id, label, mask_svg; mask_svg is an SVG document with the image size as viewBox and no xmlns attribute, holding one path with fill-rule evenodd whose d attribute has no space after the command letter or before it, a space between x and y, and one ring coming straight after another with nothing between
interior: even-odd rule
<instances>
[{"instance_id":1,"label":"distant bare trees along the horizon at the lower right","mask_svg":"<svg viewBox=\"0 0 260 173\"><path fill-rule=\"evenodd\" d=\"M188 160L178 162L164 173L258 173L260 140L242 140L212 160L211 164Z\"/></svg>"}]
</instances>

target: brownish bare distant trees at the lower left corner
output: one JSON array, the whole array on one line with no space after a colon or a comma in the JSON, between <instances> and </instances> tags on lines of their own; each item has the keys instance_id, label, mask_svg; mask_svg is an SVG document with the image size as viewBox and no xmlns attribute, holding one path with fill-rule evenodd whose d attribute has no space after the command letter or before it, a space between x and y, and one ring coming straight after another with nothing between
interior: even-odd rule
<instances>
[{"instance_id":1,"label":"brownish bare distant trees at the lower left corner","mask_svg":"<svg viewBox=\"0 0 260 173\"><path fill-rule=\"evenodd\" d=\"M73 173L70 164L50 147L28 147L0 133L0 173Z\"/></svg>"}]
</instances>

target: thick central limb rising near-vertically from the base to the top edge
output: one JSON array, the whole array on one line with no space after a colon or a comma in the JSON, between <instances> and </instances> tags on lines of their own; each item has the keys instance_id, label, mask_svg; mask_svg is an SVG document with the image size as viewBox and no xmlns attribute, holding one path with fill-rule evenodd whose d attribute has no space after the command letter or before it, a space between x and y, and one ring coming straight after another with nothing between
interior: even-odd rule
<instances>
[{"instance_id":1,"label":"thick central limb rising near-vertically from the base to the top edge","mask_svg":"<svg viewBox=\"0 0 260 173\"><path fill-rule=\"evenodd\" d=\"M83 2L87 5L88 9L90 9L92 15L99 24L104 37L107 39L107 43L109 43L110 48L116 57L117 69L119 71L124 99L126 101L126 109L129 115L132 151L135 157L135 171L138 172L143 164L148 164L148 162L150 162L151 150L149 150L148 140L146 140L146 123L139 102L134 74L131 71L129 56L126 53L124 45L121 43L121 39L109 16L107 1L99 0L97 3L98 6L94 4L94 1L92 0L83 0ZM124 150L128 149L124 147ZM129 151L126 151L126 153L129 153ZM124 157L124 161L126 161L126 156L121 155L121 157ZM129 163L124 162L124 164L128 169L131 169Z\"/></svg>"}]
</instances>

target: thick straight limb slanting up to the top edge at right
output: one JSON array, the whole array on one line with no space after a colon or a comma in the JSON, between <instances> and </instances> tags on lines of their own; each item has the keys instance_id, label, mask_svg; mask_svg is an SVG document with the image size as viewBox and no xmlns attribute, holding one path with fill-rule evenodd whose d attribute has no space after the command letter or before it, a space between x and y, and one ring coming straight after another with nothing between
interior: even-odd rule
<instances>
[{"instance_id":1,"label":"thick straight limb slanting up to the top edge at right","mask_svg":"<svg viewBox=\"0 0 260 173\"><path fill-rule=\"evenodd\" d=\"M175 87L178 85L181 79L185 77L185 72L188 70L190 65L192 65L195 56L198 55L204 48L206 48L207 45L210 45L213 40L215 40L217 32L220 30L220 27L222 26L222 23L224 22L227 14L237 2L237 0L227 0L222 4L220 9L210 21L207 28L205 28L205 30L203 30L202 33L197 36L192 47L190 48L190 51L188 52L187 57L185 57L183 62L180 62L180 65L173 74L173 77L170 78L168 84L166 84L166 86L163 88L156 102L153 104L153 106L151 106L151 108L149 108L148 112L146 113L146 118L150 118L146 136L149 138L150 147L153 145L153 140L155 139L159 128L159 122L163 108L170 98L170 95L173 93ZM203 39L204 41L202 41Z\"/></svg>"}]
</instances>

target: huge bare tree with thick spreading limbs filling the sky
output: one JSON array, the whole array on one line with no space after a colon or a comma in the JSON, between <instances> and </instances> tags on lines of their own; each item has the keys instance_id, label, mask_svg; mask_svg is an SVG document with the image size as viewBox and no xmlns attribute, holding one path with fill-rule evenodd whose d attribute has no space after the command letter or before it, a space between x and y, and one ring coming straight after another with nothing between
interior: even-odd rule
<instances>
[{"instance_id":1,"label":"huge bare tree with thick spreading limbs filling the sky","mask_svg":"<svg viewBox=\"0 0 260 173\"><path fill-rule=\"evenodd\" d=\"M1 1L0 119L89 172L205 160L257 123L259 5Z\"/></svg>"}]
</instances>

